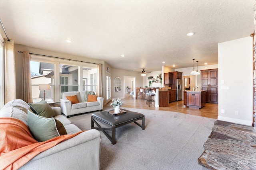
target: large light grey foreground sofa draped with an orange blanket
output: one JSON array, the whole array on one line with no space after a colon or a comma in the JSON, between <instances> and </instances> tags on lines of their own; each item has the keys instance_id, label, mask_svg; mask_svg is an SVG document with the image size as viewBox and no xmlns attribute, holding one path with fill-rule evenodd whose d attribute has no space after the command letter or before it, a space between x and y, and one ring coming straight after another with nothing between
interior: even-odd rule
<instances>
[{"instance_id":1,"label":"large light grey foreground sofa draped with an orange blanket","mask_svg":"<svg viewBox=\"0 0 256 170\"><path fill-rule=\"evenodd\" d=\"M100 139L101 139L100 132L95 129L91 129L88 131L81 131L76 125L71 124L71 122L61 114L60 107L52 107L52 110L54 110L54 113L55 113L54 120L57 119L64 125L66 129L66 133L68 135L73 134L75 136L65 141L62 141L57 145L51 147L50 149L47 149L37 154L37 156L34 156L26 164L21 166L20 170L35 170L35 169L36 170L47 170L47 169L97 170L99 169ZM30 125L30 122L28 121L30 114L32 114L33 116L35 115L32 109L30 109L30 106L26 102L20 99L12 100L8 102L0 110L0 129L1 129L0 145L2 145L0 146L0 150L1 150L0 157L2 157L0 158L0 169L3 169L3 167L1 166L3 166L3 162L6 162L3 156L6 153L4 153L3 150L6 149L6 147L13 148L16 145L15 143L11 144L9 140L13 134L10 134L10 133L7 134L7 132L3 132L9 129L8 128L9 124L6 125L6 123L4 123L4 120L8 119L16 123L18 122L19 126L23 125L24 127L28 128L29 127L28 125ZM51 118L47 118L47 119L51 119ZM11 122L11 124L13 123ZM32 131L32 129L30 128L29 131ZM16 133L16 131L11 131L11 133L12 132ZM56 138L61 139L68 135L58 136L51 140L54 140ZM24 143L24 139L26 139L27 136L28 134L26 135L22 134L22 136L19 137L19 141L17 142L17 145L18 143L19 144L22 142ZM17 138L17 135L14 138ZM12 142L15 142L15 141L12 140ZM36 143L40 144L40 142L38 143L37 141ZM34 146L34 144L31 144L31 146L32 145ZM27 148L30 148L30 146ZM16 151L16 150L10 150L9 153L10 152L13 153L13 151ZM14 166L14 164L12 164L12 166ZM12 168L16 169L14 167Z\"/></svg>"}]
</instances>

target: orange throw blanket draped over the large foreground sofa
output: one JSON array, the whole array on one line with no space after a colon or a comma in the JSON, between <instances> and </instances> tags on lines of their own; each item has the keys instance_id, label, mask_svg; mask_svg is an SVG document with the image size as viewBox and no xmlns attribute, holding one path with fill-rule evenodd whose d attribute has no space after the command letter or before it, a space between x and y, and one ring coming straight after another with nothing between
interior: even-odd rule
<instances>
[{"instance_id":1,"label":"orange throw blanket draped over the large foreground sofa","mask_svg":"<svg viewBox=\"0 0 256 170\"><path fill-rule=\"evenodd\" d=\"M19 119L2 117L0 118L0 169L16 170L40 152L79 133L62 135L48 141L38 142L33 138L25 123Z\"/></svg>"}]
</instances>

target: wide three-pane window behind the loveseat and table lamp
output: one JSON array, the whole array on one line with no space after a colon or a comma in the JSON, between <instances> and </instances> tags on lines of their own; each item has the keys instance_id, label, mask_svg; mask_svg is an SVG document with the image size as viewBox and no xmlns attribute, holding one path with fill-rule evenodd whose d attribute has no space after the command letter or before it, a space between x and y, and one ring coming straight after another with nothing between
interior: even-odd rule
<instances>
[{"instance_id":1,"label":"wide three-pane window behind the loveseat and table lamp","mask_svg":"<svg viewBox=\"0 0 256 170\"><path fill-rule=\"evenodd\" d=\"M38 88L38 84L42 82L42 84L51 84L51 90L46 91L46 101L60 102L64 92L93 90L96 93L97 64L62 59L52 60L49 57L31 55L30 65L32 88L35 88L32 92L33 102L38 102L43 98L43 92L41 97ZM36 80L40 80L40 82Z\"/></svg>"}]
</instances>

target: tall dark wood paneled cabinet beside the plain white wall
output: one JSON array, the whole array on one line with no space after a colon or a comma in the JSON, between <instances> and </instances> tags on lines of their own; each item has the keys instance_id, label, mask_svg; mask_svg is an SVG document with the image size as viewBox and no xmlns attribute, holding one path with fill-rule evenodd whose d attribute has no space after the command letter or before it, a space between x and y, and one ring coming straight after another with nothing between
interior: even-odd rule
<instances>
[{"instance_id":1,"label":"tall dark wood paneled cabinet beside the plain white wall","mask_svg":"<svg viewBox=\"0 0 256 170\"><path fill-rule=\"evenodd\" d=\"M206 91L206 103L218 104L218 68L201 71L201 90Z\"/></svg>"}]
</instances>

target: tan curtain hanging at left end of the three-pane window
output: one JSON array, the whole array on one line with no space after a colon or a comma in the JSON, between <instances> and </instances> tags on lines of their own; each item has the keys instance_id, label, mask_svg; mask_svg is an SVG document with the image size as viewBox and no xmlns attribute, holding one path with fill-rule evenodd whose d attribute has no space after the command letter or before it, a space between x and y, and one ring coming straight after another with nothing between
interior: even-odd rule
<instances>
[{"instance_id":1,"label":"tan curtain hanging at left end of the three-pane window","mask_svg":"<svg viewBox=\"0 0 256 170\"><path fill-rule=\"evenodd\" d=\"M33 103L30 59L29 52L23 51L21 99L26 103Z\"/></svg>"}]
</instances>

